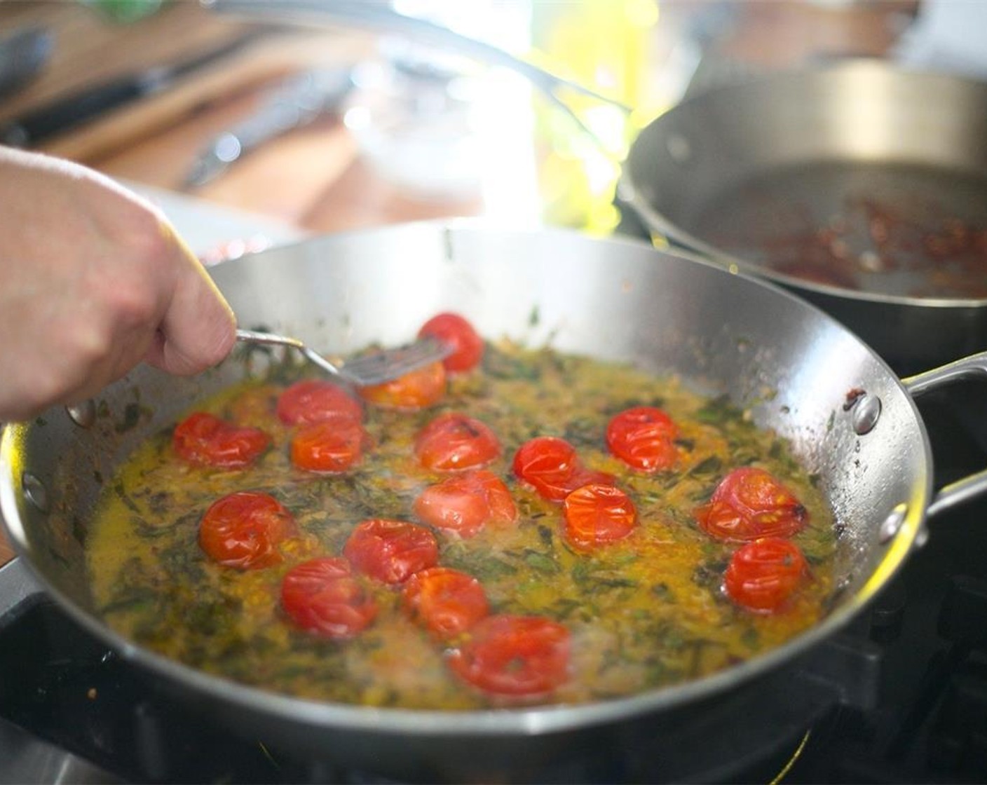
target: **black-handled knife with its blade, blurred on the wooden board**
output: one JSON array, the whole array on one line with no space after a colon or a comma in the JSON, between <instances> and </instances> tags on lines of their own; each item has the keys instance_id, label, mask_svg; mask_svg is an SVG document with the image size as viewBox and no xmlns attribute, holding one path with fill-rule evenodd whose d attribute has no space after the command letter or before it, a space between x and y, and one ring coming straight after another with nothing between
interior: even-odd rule
<instances>
[{"instance_id":1,"label":"black-handled knife with its blade, blurred on the wooden board","mask_svg":"<svg viewBox=\"0 0 987 785\"><path fill-rule=\"evenodd\" d=\"M35 147L45 139L96 119L114 109L171 87L192 71L226 57L264 33L252 31L226 41L204 54L171 65L155 66L56 97L20 118L0 123L0 144Z\"/></svg>"}]
</instances>

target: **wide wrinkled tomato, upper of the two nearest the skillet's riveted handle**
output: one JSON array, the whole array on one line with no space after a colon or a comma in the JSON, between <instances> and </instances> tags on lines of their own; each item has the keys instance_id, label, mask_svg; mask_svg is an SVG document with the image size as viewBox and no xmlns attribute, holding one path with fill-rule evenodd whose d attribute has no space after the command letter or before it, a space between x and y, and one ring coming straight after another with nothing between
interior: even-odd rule
<instances>
[{"instance_id":1,"label":"wide wrinkled tomato, upper of the two nearest the skillet's riveted handle","mask_svg":"<svg viewBox=\"0 0 987 785\"><path fill-rule=\"evenodd\" d=\"M791 537L808 521L808 512L764 469L745 466L723 478L710 504L696 510L695 517L708 534L744 542Z\"/></svg>"}]
</instances>

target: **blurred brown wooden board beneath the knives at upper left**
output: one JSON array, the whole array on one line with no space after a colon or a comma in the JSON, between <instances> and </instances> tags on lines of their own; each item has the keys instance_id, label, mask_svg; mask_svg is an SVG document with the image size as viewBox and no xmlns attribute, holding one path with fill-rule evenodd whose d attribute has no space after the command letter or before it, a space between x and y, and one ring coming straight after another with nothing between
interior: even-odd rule
<instances>
[{"instance_id":1,"label":"blurred brown wooden board beneath the knives at upper left","mask_svg":"<svg viewBox=\"0 0 987 785\"><path fill-rule=\"evenodd\" d=\"M27 90L0 102L0 121L114 76L181 62L260 27L216 16L190 0L168 3L129 25L62 0L0 5L2 30L38 23L54 31L54 56ZM120 179L181 190L195 154L217 133L248 118L275 83L305 69L358 62L373 52L376 40L355 30L262 30L259 39L169 90L51 138L39 149ZM475 203L417 200L380 181L359 160L338 117L269 142L190 194L315 232L479 209Z\"/></svg>"}]
</instances>

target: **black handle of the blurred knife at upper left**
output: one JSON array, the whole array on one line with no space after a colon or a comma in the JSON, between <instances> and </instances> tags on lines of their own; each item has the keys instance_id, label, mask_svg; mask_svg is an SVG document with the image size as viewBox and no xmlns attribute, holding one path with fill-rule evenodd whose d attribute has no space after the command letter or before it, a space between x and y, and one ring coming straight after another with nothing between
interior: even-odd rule
<instances>
[{"instance_id":1,"label":"black handle of the blurred knife at upper left","mask_svg":"<svg viewBox=\"0 0 987 785\"><path fill-rule=\"evenodd\" d=\"M127 76L54 101L0 125L0 144L34 147L49 136L97 118L129 101L162 89L168 81L165 69Z\"/></svg>"}]
</instances>

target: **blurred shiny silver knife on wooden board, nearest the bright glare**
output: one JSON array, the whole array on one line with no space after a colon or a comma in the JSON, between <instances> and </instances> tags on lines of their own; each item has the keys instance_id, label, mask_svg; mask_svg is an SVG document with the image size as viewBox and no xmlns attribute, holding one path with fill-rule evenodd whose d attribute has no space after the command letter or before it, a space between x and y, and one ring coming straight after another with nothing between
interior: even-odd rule
<instances>
[{"instance_id":1,"label":"blurred shiny silver knife on wooden board, nearest the bright glare","mask_svg":"<svg viewBox=\"0 0 987 785\"><path fill-rule=\"evenodd\" d=\"M353 86L351 68L304 71L279 83L253 116L206 145L192 163L184 188L204 186L265 142L338 111Z\"/></svg>"}]
</instances>

